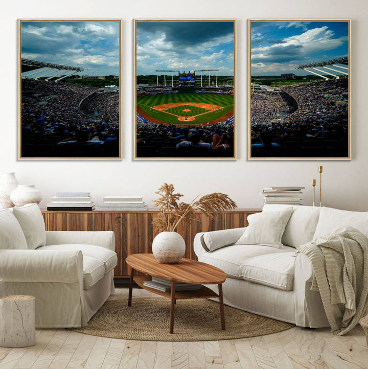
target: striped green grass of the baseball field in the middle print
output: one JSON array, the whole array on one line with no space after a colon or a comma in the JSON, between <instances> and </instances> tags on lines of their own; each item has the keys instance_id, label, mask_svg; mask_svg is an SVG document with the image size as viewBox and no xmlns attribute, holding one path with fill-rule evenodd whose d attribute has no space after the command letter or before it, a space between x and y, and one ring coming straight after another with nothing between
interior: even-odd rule
<instances>
[{"instance_id":1,"label":"striped green grass of the baseball field in the middle print","mask_svg":"<svg viewBox=\"0 0 368 369\"><path fill-rule=\"evenodd\" d=\"M202 103L202 104L213 104L223 106L223 109L219 109L216 111L210 110L206 114L202 114L199 117L196 117L194 121L191 121L191 124L201 124L207 123L214 120L221 121L221 117L227 114L229 111L234 109L234 96L230 95L211 95L211 94L167 94L167 95L151 95L151 96L140 96L137 97L137 106L140 107L143 111L145 111L149 116L158 119L160 121L166 123L174 123L174 124L187 124L187 122L182 122L177 119L177 117L172 116L171 114L167 114L163 111L157 111L151 109L152 106L162 105L162 104L170 104L170 103ZM188 108L191 111L188 111L188 116L196 115L192 113L193 109L201 109L196 108L194 106L185 107L179 106L176 108L169 109L173 114L177 114L178 116L184 116L182 109ZM175 113L171 111L172 109L180 109L180 113ZM201 109L204 110L205 109ZM202 111L203 112L203 111ZM198 113L200 114L200 112ZM188 117L187 116L187 117Z\"/></svg>"}]
</instances>

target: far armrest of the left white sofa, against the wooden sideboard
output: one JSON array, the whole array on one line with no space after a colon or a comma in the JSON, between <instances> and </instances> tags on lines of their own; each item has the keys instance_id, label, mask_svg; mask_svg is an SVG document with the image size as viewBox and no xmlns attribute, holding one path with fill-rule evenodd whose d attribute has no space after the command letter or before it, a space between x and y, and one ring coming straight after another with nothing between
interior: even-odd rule
<instances>
[{"instance_id":1,"label":"far armrest of the left white sofa, against the wooden sideboard","mask_svg":"<svg viewBox=\"0 0 368 369\"><path fill-rule=\"evenodd\" d=\"M111 230L104 231L58 231L46 232L46 246L63 244L95 245L115 251L115 234Z\"/></svg>"}]
</instances>

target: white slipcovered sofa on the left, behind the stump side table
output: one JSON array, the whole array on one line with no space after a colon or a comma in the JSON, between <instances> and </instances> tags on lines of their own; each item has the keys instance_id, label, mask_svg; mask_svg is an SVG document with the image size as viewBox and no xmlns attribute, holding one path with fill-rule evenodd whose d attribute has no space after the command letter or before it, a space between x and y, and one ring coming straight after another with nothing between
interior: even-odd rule
<instances>
[{"instance_id":1,"label":"white slipcovered sofa on the left, behind the stump side table","mask_svg":"<svg viewBox=\"0 0 368 369\"><path fill-rule=\"evenodd\" d=\"M36 327L83 327L114 292L114 233L45 232L37 204L0 210L0 285L35 296Z\"/></svg>"}]
</instances>

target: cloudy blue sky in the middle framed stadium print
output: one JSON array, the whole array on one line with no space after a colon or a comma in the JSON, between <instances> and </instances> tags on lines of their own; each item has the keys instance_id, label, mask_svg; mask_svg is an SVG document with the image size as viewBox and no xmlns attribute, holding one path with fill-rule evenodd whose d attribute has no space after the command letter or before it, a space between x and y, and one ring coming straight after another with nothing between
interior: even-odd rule
<instances>
[{"instance_id":1,"label":"cloudy blue sky in the middle framed stadium print","mask_svg":"<svg viewBox=\"0 0 368 369\"><path fill-rule=\"evenodd\" d=\"M137 75L219 69L234 76L233 21L137 21Z\"/></svg>"}]
</instances>

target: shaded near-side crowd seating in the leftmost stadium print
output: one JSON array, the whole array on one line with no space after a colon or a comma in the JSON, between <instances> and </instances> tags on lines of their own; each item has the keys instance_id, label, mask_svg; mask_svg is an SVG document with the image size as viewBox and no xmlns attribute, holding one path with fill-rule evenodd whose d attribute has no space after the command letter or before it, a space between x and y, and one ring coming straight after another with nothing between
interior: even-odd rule
<instances>
[{"instance_id":1,"label":"shaded near-side crowd seating in the leftmost stadium print","mask_svg":"<svg viewBox=\"0 0 368 369\"><path fill-rule=\"evenodd\" d=\"M119 156L119 99L86 101L102 119L91 119L79 105L98 88L22 80L21 150L27 156ZM115 96L119 96L114 93ZM94 100L94 99L93 99ZM98 103L94 108L93 104Z\"/></svg>"}]
</instances>

